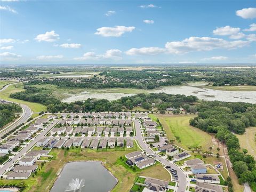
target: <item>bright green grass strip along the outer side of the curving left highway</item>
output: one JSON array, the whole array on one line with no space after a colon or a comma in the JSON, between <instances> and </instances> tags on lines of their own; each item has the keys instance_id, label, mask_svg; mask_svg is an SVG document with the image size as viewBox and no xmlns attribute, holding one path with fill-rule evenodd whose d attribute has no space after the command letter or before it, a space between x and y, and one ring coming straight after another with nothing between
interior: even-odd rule
<instances>
[{"instance_id":1,"label":"bright green grass strip along the outer side of the curving left highway","mask_svg":"<svg viewBox=\"0 0 256 192\"><path fill-rule=\"evenodd\" d=\"M8 101L17 102L17 103L27 105L28 107L30 107L30 109L33 112L40 112L40 111L45 111L46 110L46 106L44 106L40 103L28 102L28 101L13 99L13 98L9 97L9 95L11 93L16 93L16 92L20 92L20 91L25 91L23 89L23 83L17 83L17 84L14 84L14 85L10 85L6 90L1 92L0 99L4 99L4 100L8 100Z\"/></svg>"}]
</instances>

